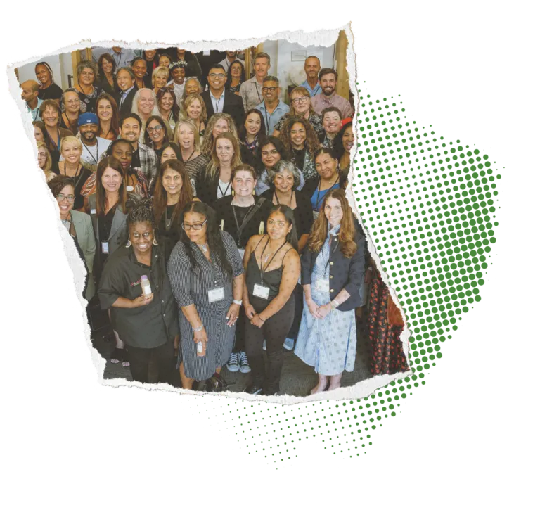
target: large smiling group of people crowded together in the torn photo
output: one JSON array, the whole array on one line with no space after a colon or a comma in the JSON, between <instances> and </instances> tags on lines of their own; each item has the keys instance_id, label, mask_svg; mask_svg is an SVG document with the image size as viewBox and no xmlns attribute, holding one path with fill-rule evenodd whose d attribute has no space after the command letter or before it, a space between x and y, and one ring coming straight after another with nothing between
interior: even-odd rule
<instances>
[{"instance_id":1,"label":"large smiling group of people crowded together in the torn photo","mask_svg":"<svg viewBox=\"0 0 540 517\"><path fill-rule=\"evenodd\" d=\"M153 357L169 382L178 350L184 388L223 386L226 365L252 372L248 392L274 395L294 349L319 374L312 393L338 388L368 267L344 190L354 110L338 75L310 56L287 105L265 53L243 81L228 52L203 91L175 51L129 65L101 53L66 91L38 63L39 84L21 85L39 167L89 272L84 295L110 315L110 360L146 382Z\"/></svg>"}]
</instances>

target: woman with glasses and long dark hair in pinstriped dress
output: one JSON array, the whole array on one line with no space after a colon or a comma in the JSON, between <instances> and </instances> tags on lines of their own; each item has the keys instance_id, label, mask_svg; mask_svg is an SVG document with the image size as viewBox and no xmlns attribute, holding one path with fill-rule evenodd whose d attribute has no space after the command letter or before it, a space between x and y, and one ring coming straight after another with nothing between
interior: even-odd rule
<instances>
[{"instance_id":1,"label":"woman with glasses and long dark hair in pinstriped dress","mask_svg":"<svg viewBox=\"0 0 540 517\"><path fill-rule=\"evenodd\" d=\"M214 378L233 348L244 284L244 269L233 238L219 229L216 212L206 203L188 203L182 214L181 240L167 272L180 307L182 387L200 389ZM193 385L194 381L199 381Z\"/></svg>"}]
</instances>

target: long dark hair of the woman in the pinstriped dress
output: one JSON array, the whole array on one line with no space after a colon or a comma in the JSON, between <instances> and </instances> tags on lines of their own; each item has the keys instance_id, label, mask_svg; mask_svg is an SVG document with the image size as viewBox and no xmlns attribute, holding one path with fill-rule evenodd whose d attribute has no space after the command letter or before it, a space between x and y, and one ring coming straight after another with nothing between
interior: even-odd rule
<instances>
[{"instance_id":1,"label":"long dark hair of the woman in the pinstriped dress","mask_svg":"<svg viewBox=\"0 0 540 517\"><path fill-rule=\"evenodd\" d=\"M221 236L221 231L219 229L219 224L217 224L217 214L216 211L206 203L202 201L192 201L188 203L184 210L182 211L181 220L184 221L184 216L190 212L195 212L196 214L203 215L206 219L206 238L208 243L208 249L214 253L214 256L217 257L218 266L229 275L229 279L233 277L233 268L227 260L227 255L225 251L225 246L223 244L223 238ZM191 240L186 234L185 230L181 231L180 240L184 243L186 247L186 253L188 259L191 262L191 267L193 271L199 269L197 262L195 261L195 255L193 255L193 250L191 250Z\"/></svg>"}]
</instances>

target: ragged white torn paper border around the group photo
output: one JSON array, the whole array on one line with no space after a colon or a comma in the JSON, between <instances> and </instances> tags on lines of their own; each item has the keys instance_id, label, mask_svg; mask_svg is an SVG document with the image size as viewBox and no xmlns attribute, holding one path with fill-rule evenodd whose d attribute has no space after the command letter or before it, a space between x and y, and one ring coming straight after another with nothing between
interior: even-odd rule
<instances>
[{"instance_id":1,"label":"ragged white torn paper border around the group photo","mask_svg":"<svg viewBox=\"0 0 540 517\"><path fill-rule=\"evenodd\" d=\"M197 41L197 42L189 42L184 41L181 43L181 46L185 48L187 51L192 52L199 52L199 51L208 51L208 50L241 50L246 49L250 46L255 46L260 43L263 43L265 41L274 41L277 39L285 40L290 43L296 43L301 44L302 46L331 46L335 44L338 41L338 36L340 31L345 30L345 34L347 36L347 72L349 74L349 87L353 91L355 104L356 104L356 111L355 111L355 117L353 121L353 127L355 128L355 145L352 149L356 149L357 145L357 128L356 123L358 121L358 108L359 108L359 96L358 92L356 90L356 60L354 58L354 25L351 21L350 23L344 23L343 25L340 25L335 28L330 29L282 29L282 30L276 30L275 32L272 32L271 34L264 34L259 37L255 37L252 39L247 38L235 38L235 39L223 39L218 42L212 41L212 40L205 40L205 41ZM178 43L174 43L171 40L157 40L153 42L146 42L144 40L128 40L127 42L122 41L121 39L106 39L106 40L92 40L89 38L81 39L81 40L69 40L68 43L65 43L63 41L63 44L61 46L54 46L54 48L51 51L36 51L36 52L29 52L29 56L27 57L14 57L13 61L11 63L6 63L8 66L6 66L6 89L8 92L11 93L11 101L14 103L15 106L15 113L18 116L18 120L23 125L23 128L25 130L25 135L27 136L28 140L28 160L29 162L34 162L34 170L37 172L34 172L34 174L39 173L40 180L40 190L43 187L43 190L45 191L45 203L40 203L42 205L41 208L51 208L51 229L56 229L57 236L60 237L60 241L62 242L62 248L65 255L67 255L68 258L68 264L70 267L70 271L73 274L73 278L75 280L74 282L74 303L78 302L79 304L79 316L81 313L80 309L86 309L88 302L87 300L82 297L82 288L84 286L84 267L82 264L82 259L79 257L79 254L77 253L77 250L75 248L75 243L72 241L72 238L68 234L67 229L63 226L63 224L58 224L59 222L59 209L58 205L56 203L56 200L53 198L50 189L46 186L46 181L44 177L44 173L39 169L37 166L37 143L34 139L34 131L32 126L32 120L30 116L30 112L27 110L27 107L25 106L25 103L23 99L21 98L22 89L20 89L20 85L18 84L17 78L15 76L15 68L21 67L23 65L27 65L30 63L35 63L41 58L46 58L48 56L56 56L60 53L65 52L72 52L76 50L82 50L86 49L89 46L105 46L108 47L111 44L117 44L117 46L122 46L126 48L131 49L157 49L162 48L163 46L180 46ZM52 47L51 47L52 48ZM6 98L8 100L8 98ZM28 137L30 136L30 138ZM352 152L352 151L351 151ZM352 170L349 172L350 174L354 175L354 156L352 156L351 164L352 164ZM397 300L397 296L394 293L394 290L392 286L390 286L389 283L389 276L384 272L384 269L381 267L380 260L378 258L378 255L375 251L375 247L371 241L371 238L369 238L366 229L364 225L361 222L361 217L359 217L358 207L356 205L356 200L354 199L354 196L352 196L352 182L349 181L349 186L347 188L347 199L349 200L349 204L353 207L353 212L355 213L356 217L359 219L359 222L362 226L362 229L364 230L364 233L366 234L366 238L368 239L368 249L371 253L371 255L375 259L375 263L377 264L377 267L380 271L381 277L383 278L383 281L385 281L386 285L390 288L390 293L392 293L392 299L394 299L394 302L397 302L397 306L401 310L402 316L404 316L403 309L401 305L399 304L399 300ZM44 210L42 211L40 208L40 212L44 213ZM263 402L266 404L280 404L280 405L293 405L293 404L314 404L314 402L319 401L325 401L325 402L343 402L346 400L358 400L363 399L366 397L369 397L372 395L376 390L383 388L385 385L391 383L392 381L396 381L399 379L404 379L408 376L412 375L412 371L410 369L409 364L409 371L393 374L393 375L380 375L375 376L371 378L364 379L363 381L359 381L355 385L347 386L338 388L337 390L333 390L332 392L325 392L324 397L321 397L321 395L308 395L307 397L297 397L297 396L291 396L291 395L281 395L278 397L262 397L259 395L248 395L245 392L219 392L219 393L208 393L208 392L193 392L191 390L184 390L181 388L174 388L171 385L165 385L165 384L142 384L137 383L134 381L127 381L124 378L116 378L116 379L105 379L103 378L103 374L105 371L105 359L101 356L101 354L94 348L91 342L91 328L89 325L89 319L88 315L86 314L86 310L82 312L82 318L79 317L79 329L80 326L82 326L84 330L84 343L85 347L89 350L91 355L91 364L94 366L94 369L96 371L96 381L100 386L103 387L110 387L110 388L143 388L144 390L148 390L150 392L167 392L167 393L175 393L179 395L188 395L190 397L197 396L197 397L204 397L204 398L218 398L218 399L232 399L232 400L238 400L238 401L253 401L253 402ZM74 318L75 319L75 318ZM406 318L404 317L404 321L406 321ZM407 326L404 328L404 332L401 333L402 340L405 338L404 342L404 352L407 357L407 361L409 363L409 355L408 355L408 338L410 336L410 332L408 331Z\"/></svg>"}]
</instances>

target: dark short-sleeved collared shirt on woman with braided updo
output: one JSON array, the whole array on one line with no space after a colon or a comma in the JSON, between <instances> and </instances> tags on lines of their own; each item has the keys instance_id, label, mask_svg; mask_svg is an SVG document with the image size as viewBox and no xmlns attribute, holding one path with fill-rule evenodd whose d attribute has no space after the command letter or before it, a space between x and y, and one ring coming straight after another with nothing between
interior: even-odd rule
<instances>
[{"instance_id":1,"label":"dark short-sleeved collared shirt on woman with braided updo","mask_svg":"<svg viewBox=\"0 0 540 517\"><path fill-rule=\"evenodd\" d=\"M112 307L113 325L127 345L155 348L179 334L178 309L167 275L167 254L170 245L160 238L152 245L150 266L137 261L133 246L122 246L105 264L99 286L99 301L103 309L113 306L122 296L134 300L142 295L141 276L148 276L153 300L143 307L122 309Z\"/></svg>"}]
</instances>

